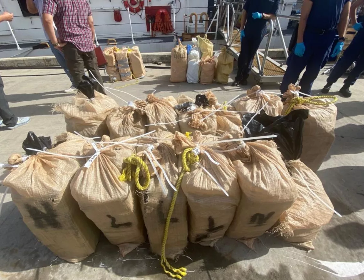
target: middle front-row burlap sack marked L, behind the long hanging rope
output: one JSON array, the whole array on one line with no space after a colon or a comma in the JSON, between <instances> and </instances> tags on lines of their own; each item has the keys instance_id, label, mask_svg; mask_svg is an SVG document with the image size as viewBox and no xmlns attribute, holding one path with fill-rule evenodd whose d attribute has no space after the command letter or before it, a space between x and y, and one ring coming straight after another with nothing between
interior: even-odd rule
<instances>
[{"instance_id":1,"label":"middle front-row burlap sack marked L, behind the long hanging rope","mask_svg":"<svg viewBox=\"0 0 364 280\"><path fill-rule=\"evenodd\" d=\"M157 133L151 134L151 136L163 139L173 139L174 135L167 131L158 131ZM171 141L142 138L139 143L153 145L155 147L152 151L153 155L165 170L170 182L176 186L178 179L178 158L174 153L174 146ZM142 150L145 151L145 148L138 148L138 151ZM142 155L142 153L140 154ZM148 232L151 251L157 255L161 255L166 219L174 190L170 187L162 170L154 163L165 187L161 186L146 155L143 154L142 157L149 167L151 180L147 190L140 195L140 204L142 207L144 223ZM165 188L167 192L163 191ZM187 199L183 191L179 189L169 225L165 250L167 258L173 259L183 252L187 245L187 236Z\"/></svg>"}]
</instances>

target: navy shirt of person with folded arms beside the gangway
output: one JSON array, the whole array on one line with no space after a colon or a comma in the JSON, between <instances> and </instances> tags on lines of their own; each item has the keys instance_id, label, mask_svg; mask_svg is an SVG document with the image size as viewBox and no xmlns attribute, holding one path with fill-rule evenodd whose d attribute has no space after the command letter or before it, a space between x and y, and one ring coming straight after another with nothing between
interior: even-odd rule
<instances>
[{"instance_id":1,"label":"navy shirt of person with folded arms beside the gangway","mask_svg":"<svg viewBox=\"0 0 364 280\"><path fill-rule=\"evenodd\" d=\"M253 19L252 14L258 13L270 13L277 15L279 0L247 0L244 5L246 11L246 24L245 24L245 35L262 37L266 33L265 19Z\"/></svg>"}]
</instances>

